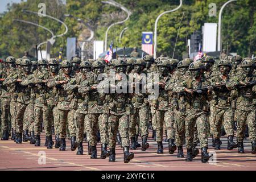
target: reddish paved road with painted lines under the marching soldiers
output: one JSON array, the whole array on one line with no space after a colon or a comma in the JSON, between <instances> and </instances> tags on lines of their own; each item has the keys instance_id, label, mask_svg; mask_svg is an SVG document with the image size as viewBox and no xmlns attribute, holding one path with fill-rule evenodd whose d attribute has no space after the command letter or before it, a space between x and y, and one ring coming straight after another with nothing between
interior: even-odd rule
<instances>
[{"instance_id":1,"label":"reddish paved road with painted lines under the marching soldiers","mask_svg":"<svg viewBox=\"0 0 256 182\"><path fill-rule=\"evenodd\" d=\"M251 146L248 139L245 140L245 154L237 154L237 150L226 150L226 138L222 138L222 148L216 151L217 163L201 163L201 155L193 162L185 162L184 158L176 158L168 154L167 143L164 142L164 154L156 154L157 144L151 138L150 148L147 151L131 150L135 158L130 163L123 163L122 148L117 146L115 163L109 163L108 159L90 159L87 144L84 143L84 154L76 155L76 151L70 150L70 140L67 142L67 151L58 149L47 150L46 147L35 147L28 142L15 144L13 140L0 140L0 170L85 170L85 171L165 171L165 170L256 170L256 155L250 154ZM210 141L210 138L209 138ZM44 144L44 134L41 144ZM209 146L212 143L209 142ZM100 144L97 147L100 156ZM214 151L209 147L208 151ZM46 164L39 164L40 152L46 154ZM184 150L186 153L186 150Z\"/></svg>"}]
</instances>

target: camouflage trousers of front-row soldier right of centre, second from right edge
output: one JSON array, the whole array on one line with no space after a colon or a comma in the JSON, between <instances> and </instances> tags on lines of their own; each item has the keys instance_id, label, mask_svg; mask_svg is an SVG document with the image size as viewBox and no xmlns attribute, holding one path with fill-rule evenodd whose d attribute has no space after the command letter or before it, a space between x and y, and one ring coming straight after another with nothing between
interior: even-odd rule
<instances>
[{"instance_id":1,"label":"camouflage trousers of front-row soldier right of centre, second from right edge","mask_svg":"<svg viewBox=\"0 0 256 182\"><path fill-rule=\"evenodd\" d=\"M185 118L185 138L186 147L193 147L193 139L195 134L195 125L197 126L200 147L208 147L208 123L207 112L188 109Z\"/></svg>"}]
</instances>

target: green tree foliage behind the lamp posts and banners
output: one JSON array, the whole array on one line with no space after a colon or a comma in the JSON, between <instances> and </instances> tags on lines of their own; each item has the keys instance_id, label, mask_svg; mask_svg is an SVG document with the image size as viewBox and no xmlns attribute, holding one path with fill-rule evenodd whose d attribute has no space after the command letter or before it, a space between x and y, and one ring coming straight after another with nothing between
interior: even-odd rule
<instances>
[{"instance_id":1,"label":"green tree foliage behind the lamp posts and banners","mask_svg":"<svg viewBox=\"0 0 256 182\"><path fill-rule=\"evenodd\" d=\"M71 14L89 23L95 31L94 40L105 40L108 26L127 16L121 9L104 4L100 0L67 0L66 4L60 0L27 0L19 4L13 3L0 18L0 57L9 55L21 57L23 52L28 50L32 54L36 44L51 38L51 34L42 28L15 22L13 19L39 23L54 31L55 34L62 34L65 31L60 23L52 19L22 12L22 9L37 12L40 2L46 3L48 15L63 20L69 28L67 35L56 39L54 56L58 55L60 47L65 48L68 37L78 38L86 28L75 18L65 17L65 14ZM164 11L179 6L178 0L117 0L117 2L133 13L124 24L110 28L108 44L114 42L118 47L141 47L142 31L154 31L156 17ZM212 3L210 0L183 1L183 6L179 10L163 15L158 22L158 55L164 54L172 57L183 11L185 15L181 22L174 56L177 59L181 59L182 53L186 52L187 39L193 31L201 30L205 22L218 23L218 13L225 2L214 0L217 5L217 16L208 15L208 6ZM237 52L242 56L248 56L249 53L256 55L255 7L256 1L254 0L241 0L226 6L222 14L223 48L229 48L229 52ZM119 34L125 27L128 29L119 43Z\"/></svg>"}]
</instances>

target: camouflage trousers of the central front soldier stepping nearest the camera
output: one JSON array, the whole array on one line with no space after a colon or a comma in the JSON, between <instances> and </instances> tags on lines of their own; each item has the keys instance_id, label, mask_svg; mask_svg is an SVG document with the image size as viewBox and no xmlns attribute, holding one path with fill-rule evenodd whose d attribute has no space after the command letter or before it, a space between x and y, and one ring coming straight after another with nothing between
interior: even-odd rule
<instances>
[{"instance_id":1,"label":"camouflage trousers of the central front soldier stepping nearest the camera","mask_svg":"<svg viewBox=\"0 0 256 182\"><path fill-rule=\"evenodd\" d=\"M126 114L113 115L110 114L108 120L109 126L109 148L115 148L117 131L122 140L122 147L129 147L129 117Z\"/></svg>"}]
</instances>

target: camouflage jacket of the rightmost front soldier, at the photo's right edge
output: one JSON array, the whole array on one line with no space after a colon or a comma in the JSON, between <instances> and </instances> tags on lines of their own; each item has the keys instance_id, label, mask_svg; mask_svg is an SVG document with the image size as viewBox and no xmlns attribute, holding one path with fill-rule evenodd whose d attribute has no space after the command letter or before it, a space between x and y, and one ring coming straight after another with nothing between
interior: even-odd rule
<instances>
[{"instance_id":1,"label":"camouflage jacket of the rightmost front soldier, at the photo's right edge","mask_svg":"<svg viewBox=\"0 0 256 182\"><path fill-rule=\"evenodd\" d=\"M256 76L246 77L246 75L234 76L227 83L228 88L236 91L237 94L237 109L240 110L255 110L256 106L256 85L241 86L240 81L250 82L256 81ZM233 91L232 90L232 91Z\"/></svg>"}]
</instances>

